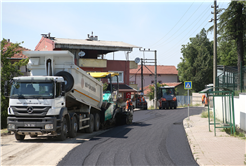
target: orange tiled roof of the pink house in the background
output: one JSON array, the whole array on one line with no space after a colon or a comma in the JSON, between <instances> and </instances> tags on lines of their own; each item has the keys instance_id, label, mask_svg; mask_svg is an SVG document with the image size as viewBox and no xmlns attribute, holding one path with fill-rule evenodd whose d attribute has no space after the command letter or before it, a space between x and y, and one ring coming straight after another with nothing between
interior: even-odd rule
<instances>
[{"instance_id":1,"label":"orange tiled roof of the pink house in the background","mask_svg":"<svg viewBox=\"0 0 246 166\"><path fill-rule=\"evenodd\" d=\"M143 74L153 74L153 73L155 73L154 65L144 65L143 66ZM140 75L141 65L138 65L137 69L130 69L130 74ZM178 74L178 70L176 69L175 66L157 65L157 74Z\"/></svg>"}]
</instances>

